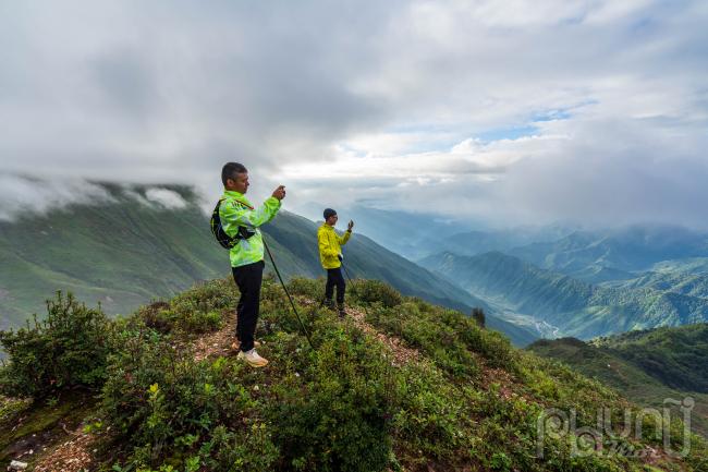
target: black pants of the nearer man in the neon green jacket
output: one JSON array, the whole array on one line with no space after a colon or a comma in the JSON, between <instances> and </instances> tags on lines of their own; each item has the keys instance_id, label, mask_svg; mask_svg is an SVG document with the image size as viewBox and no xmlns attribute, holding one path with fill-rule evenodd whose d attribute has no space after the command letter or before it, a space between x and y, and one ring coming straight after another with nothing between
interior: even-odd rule
<instances>
[{"instance_id":1,"label":"black pants of the nearer man in the neon green jacket","mask_svg":"<svg viewBox=\"0 0 708 472\"><path fill-rule=\"evenodd\" d=\"M239 286L239 291L241 291L241 298L236 306L236 338L241 342L241 350L244 352L253 349L253 337L256 332L256 323L258 323L264 267L266 267L266 263L260 261L231 268L233 280Z\"/></svg>"}]
</instances>

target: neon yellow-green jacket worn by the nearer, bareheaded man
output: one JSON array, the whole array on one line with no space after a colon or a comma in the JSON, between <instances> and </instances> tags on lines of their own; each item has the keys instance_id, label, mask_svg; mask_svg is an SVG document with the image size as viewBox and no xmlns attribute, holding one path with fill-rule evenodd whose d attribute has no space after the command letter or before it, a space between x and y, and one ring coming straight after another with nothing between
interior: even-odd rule
<instances>
[{"instance_id":1,"label":"neon yellow-green jacket worn by the nearer, bareheaded man","mask_svg":"<svg viewBox=\"0 0 708 472\"><path fill-rule=\"evenodd\" d=\"M263 237L258 227L273 219L279 209L280 201L274 196L266 198L260 208L256 209L242 193L233 190L223 191L219 206L223 232L233 237L240 226L255 231L254 235L239 241L239 244L229 250L231 267L241 267L264 259Z\"/></svg>"}]
</instances>

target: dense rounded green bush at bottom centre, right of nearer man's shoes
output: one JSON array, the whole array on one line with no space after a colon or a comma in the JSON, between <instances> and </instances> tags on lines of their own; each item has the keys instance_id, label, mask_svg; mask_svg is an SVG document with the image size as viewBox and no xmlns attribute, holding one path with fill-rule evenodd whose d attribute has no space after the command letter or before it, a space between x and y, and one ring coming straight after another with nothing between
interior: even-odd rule
<instances>
[{"instance_id":1,"label":"dense rounded green bush at bottom centre, right of nearer man's shoes","mask_svg":"<svg viewBox=\"0 0 708 472\"><path fill-rule=\"evenodd\" d=\"M294 354L303 358L293 365L297 375L273 385L265 404L280 470L383 470L395 395L390 364L375 342L331 317L318 319L314 332L317 350Z\"/></svg>"}]
</instances>

